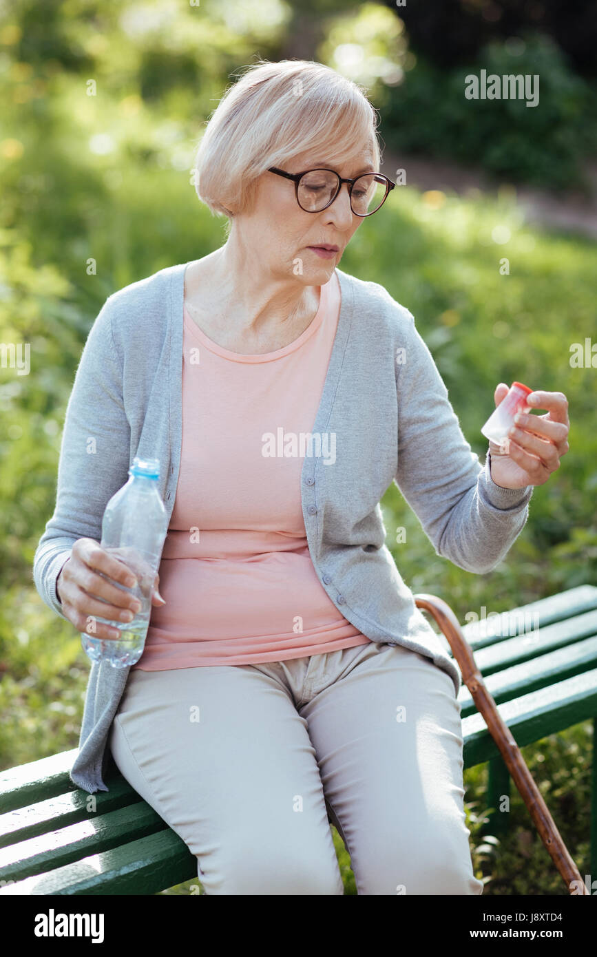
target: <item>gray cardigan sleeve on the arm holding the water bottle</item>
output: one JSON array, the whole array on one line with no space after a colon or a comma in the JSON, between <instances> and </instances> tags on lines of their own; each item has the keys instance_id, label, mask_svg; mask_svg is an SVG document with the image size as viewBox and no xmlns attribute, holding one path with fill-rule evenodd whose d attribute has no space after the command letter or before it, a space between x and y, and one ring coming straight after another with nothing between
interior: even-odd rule
<instances>
[{"instance_id":1,"label":"gray cardigan sleeve on the arm holding the water bottle","mask_svg":"<svg viewBox=\"0 0 597 957\"><path fill-rule=\"evenodd\" d=\"M122 359L109 297L93 323L78 363L60 442L55 511L33 557L40 597L66 619L56 579L79 538L101 540L107 502L127 479L130 427L122 399Z\"/></svg>"}]
</instances>

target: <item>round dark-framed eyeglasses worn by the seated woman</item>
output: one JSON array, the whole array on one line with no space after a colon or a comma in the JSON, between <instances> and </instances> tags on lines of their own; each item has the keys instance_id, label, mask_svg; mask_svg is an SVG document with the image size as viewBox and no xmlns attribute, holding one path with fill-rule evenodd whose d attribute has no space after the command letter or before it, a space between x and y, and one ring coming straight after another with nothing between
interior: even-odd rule
<instances>
[{"instance_id":1,"label":"round dark-framed eyeglasses worn by the seated woman","mask_svg":"<svg viewBox=\"0 0 597 957\"><path fill-rule=\"evenodd\" d=\"M270 167L271 173L294 180L298 206L305 212L321 212L331 206L343 183L348 184L350 209L356 216L371 216L384 205L387 194L394 189L382 173L363 173L355 179L343 179L334 169L307 169L302 173L286 173Z\"/></svg>"}]
</instances>

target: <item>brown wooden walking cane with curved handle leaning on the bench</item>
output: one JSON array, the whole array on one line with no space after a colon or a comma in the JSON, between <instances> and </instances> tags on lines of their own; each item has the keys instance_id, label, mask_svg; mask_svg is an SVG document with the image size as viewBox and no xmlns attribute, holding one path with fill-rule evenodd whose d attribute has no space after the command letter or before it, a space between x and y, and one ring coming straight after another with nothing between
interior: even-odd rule
<instances>
[{"instance_id":1,"label":"brown wooden walking cane with curved handle leaning on the bench","mask_svg":"<svg viewBox=\"0 0 597 957\"><path fill-rule=\"evenodd\" d=\"M566 887L568 890L571 886L579 889L583 887L582 895L588 895L589 891L586 883L581 878L572 857L568 854L562 835L560 835L551 814L547 810L531 772L524 763L524 758L520 754L520 748L514 740L512 731L502 720L496 701L485 687L483 676L475 664L473 650L462 633L458 619L442 598L429 594L417 594L414 595L414 600L417 608L431 612L441 631L446 635L452 648L453 657L460 668L462 680L471 692L477 711L482 714L489 733L498 745L506 767L510 771L522 800L542 837L542 842L562 875ZM572 884L572 881L577 880L580 883ZM572 893L571 890L570 893Z\"/></svg>"}]
</instances>

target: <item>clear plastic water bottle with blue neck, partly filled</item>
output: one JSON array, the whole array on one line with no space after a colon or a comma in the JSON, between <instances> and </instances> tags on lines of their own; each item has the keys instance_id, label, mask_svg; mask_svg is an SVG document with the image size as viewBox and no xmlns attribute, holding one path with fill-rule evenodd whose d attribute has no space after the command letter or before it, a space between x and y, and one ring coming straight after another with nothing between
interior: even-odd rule
<instances>
[{"instance_id":1,"label":"clear plastic water bottle with blue neck, partly filled","mask_svg":"<svg viewBox=\"0 0 597 957\"><path fill-rule=\"evenodd\" d=\"M112 585L135 595L141 609L132 621L110 621L95 615L95 620L117 628L120 638L97 638L81 634L81 644L92 661L109 661L115 668L136 664L143 655L145 636L151 616L151 595L167 534L167 512L158 491L160 460L135 456L128 470L129 479L107 503L101 523L101 545L131 569L137 579L135 588L125 588L109 576ZM103 598L99 599L104 601ZM110 604L106 602L106 604Z\"/></svg>"}]
</instances>

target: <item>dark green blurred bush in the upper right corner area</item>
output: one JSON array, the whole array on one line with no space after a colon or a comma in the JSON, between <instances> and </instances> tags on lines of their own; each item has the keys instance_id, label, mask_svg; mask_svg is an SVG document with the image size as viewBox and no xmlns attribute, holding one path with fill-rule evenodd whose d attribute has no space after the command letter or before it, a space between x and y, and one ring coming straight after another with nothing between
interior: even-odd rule
<instances>
[{"instance_id":1,"label":"dark green blurred bush in the upper right corner area","mask_svg":"<svg viewBox=\"0 0 597 957\"><path fill-rule=\"evenodd\" d=\"M481 70L487 77L537 76L538 105L467 100L466 77L478 78ZM394 152L450 158L513 182L587 191L584 161L597 151L594 103L595 82L575 75L557 44L541 34L494 41L467 67L448 72L421 56L381 100Z\"/></svg>"}]
</instances>

